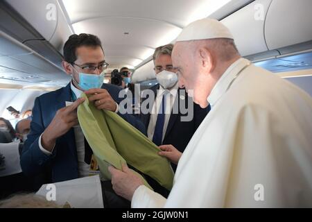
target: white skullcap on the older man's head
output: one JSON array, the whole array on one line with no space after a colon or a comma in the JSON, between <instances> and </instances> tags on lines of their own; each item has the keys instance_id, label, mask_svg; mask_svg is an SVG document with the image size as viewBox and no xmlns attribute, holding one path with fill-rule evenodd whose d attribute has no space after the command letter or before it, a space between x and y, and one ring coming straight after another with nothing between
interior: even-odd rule
<instances>
[{"instance_id":1,"label":"white skullcap on the older man's head","mask_svg":"<svg viewBox=\"0 0 312 222\"><path fill-rule=\"evenodd\" d=\"M216 19L200 19L183 28L176 42L210 40L216 38L234 39L229 29Z\"/></svg>"}]
</instances>

